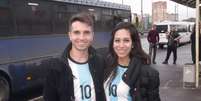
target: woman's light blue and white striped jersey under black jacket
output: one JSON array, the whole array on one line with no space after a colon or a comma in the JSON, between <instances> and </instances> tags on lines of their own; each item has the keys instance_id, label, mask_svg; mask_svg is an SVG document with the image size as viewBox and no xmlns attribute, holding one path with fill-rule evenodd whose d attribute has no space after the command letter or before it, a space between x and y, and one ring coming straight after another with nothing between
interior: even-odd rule
<instances>
[{"instance_id":1,"label":"woman's light blue and white striped jersey under black jacket","mask_svg":"<svg viewBox=\"0 0 201 101\"><path fill-rule=\"evenodd\" d=\"M132 101L129 93L129 86L122 80L122 75L127 70L125 66L118 65L116 77L109 81L110 77L104 83L104 89L107 101Z\"/></svg>"}]
</instances>

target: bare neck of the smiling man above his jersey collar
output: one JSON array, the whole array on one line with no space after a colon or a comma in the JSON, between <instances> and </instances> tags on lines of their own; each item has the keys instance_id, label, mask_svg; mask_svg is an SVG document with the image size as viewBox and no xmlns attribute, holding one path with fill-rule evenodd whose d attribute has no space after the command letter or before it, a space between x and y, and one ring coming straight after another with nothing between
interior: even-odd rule
<instances>
[{"instance_id":1,"label":"bare neck of the smiling man above his jersey collar","mask_svg":"<svg viewBox=\"0 0 201 101\"><path fill-rule=\"evenodd\" d=\"M84 63L88 60L88 51L78 51L75 49L70 50L70 57L79 63Z\"/></svg>"}]
</instances>

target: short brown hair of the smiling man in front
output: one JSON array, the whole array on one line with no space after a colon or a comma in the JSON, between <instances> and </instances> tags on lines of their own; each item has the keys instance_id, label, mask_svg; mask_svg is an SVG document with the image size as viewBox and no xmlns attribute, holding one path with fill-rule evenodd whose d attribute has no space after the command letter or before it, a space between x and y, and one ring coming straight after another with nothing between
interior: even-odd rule
<instances>
[{"instance_id":1,"label":"short brown hair of the smiling man in front","mask_svg":"<svg viewBox=\"0 0 201 101\"><path fill-rule=\"evenodd\" d=\"M94 20L92 14L89 12L81 12L73 15L69 20L69 31L71 30L72 23L75 21L80 21L91 26L92 30L94 29Z\"/></svg>"}]
</instances>

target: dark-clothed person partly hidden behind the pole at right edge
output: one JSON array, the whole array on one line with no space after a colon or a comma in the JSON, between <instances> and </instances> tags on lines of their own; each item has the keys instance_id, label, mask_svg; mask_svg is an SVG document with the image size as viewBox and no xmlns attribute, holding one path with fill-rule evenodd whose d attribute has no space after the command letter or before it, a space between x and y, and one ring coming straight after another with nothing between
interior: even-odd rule
<instances>
[{"instance_id":1,"label":"dark-clothed person partly hidden behind the pole at right edge","mask_svg":"<svg viewBox=\"0 0 201 101\"><path fill-rule=\"evenodd\" d=\"M196 25L193 26L193 32L191 34L191 56L192 56L192 61L195 64L195 56L196 56L196 52L195 52L195 28ZM199 61L201 61L201 36L199 36Z\"/></svg>"}]
</instances>

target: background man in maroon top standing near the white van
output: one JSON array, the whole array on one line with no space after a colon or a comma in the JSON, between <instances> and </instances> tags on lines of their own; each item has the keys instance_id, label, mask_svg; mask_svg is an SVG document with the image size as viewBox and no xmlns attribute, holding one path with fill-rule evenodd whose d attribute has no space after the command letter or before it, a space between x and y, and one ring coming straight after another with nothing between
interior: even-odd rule
<instances>
[{"instance_id":1,"label":"background man in maroon top standing near the white van","mask_svg":"<svg viewBox=\"0 0 201 101\"><path fill-rule=\"evenodd\" d=\"M152 63L156 64L156 61L155 61L156 51L157 51L157 45L159 42L159 34L156 30L156 25L152 26L152 29L148 33L147 40L149 42L149 56L152 59Z\"/></svg>"}]
</instances>

